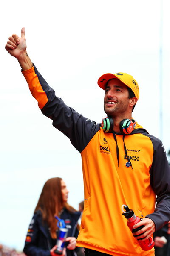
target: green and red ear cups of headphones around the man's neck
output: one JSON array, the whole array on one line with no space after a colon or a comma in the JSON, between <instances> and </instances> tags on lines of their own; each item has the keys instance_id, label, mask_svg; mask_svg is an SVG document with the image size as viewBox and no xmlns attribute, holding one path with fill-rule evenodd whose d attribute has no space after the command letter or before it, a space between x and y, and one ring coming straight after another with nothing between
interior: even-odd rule
<instances>
[{"instance_id":1,"label":"green and red ear cups of headphones around the man's neck","mask_svg":"<svg viewBox=\"0 0 170 256\"><path fill-rule=\"evenodd\" d=\"M113 118L103 118L101 126L104 132L113 132ZM119 124L120 132L123 134L130 134L135 127L136 121L133 119L123 119Z\"/></svg>"}]
</instances>

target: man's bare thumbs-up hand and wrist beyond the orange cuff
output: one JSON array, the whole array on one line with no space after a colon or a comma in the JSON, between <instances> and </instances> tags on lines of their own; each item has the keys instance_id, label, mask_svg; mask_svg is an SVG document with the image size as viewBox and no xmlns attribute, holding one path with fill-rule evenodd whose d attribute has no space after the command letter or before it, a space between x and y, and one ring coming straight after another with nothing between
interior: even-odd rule
<instances>
[{"instance_id":1,"label":"man's bare thumbs-up hand and wrist beyond the orange cuff","mask_svg":"<svg viewBox=\"0 0 170 256\"><path fill-rule=\"evenodd\" d=\"M17 58L22 70L30 69L33 66L26 51L25 28L21 29L21 37L16 34L10 36L5 48L11 56Z\"/></svg>"}]
</instances>

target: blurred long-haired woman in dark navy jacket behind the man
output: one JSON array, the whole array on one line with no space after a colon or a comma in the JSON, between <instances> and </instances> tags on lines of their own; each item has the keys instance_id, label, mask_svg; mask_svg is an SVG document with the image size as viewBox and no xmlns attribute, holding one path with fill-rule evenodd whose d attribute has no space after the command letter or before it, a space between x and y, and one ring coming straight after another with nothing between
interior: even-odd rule
<instances>
[{"instance_id":1,"label":"blurred long-haired woman in dark navy jacket behind the man","mask_svg":"<svg viewBox=\"0 0 170 256\"><path fill-rule=\"evenodd\" d=\"M67 200L68 189L61 178L55 177L45 182L26 236L23 251L27 256L57 256L54 250L57 248L58 229L54 216L63 219L68 228L65 240L67 256L76 256L76 250L79 250L76 247L77 223L81 212L77 212Z\"/></svg>"}]
</instances>

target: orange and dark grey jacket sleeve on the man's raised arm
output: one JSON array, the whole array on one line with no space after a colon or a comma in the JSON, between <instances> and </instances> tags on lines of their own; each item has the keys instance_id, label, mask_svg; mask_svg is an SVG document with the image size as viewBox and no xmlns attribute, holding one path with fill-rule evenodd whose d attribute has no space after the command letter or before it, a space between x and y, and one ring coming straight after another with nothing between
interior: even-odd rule
<instances>
[{"instance_id":1,"label":"orange and dark grey jacket sleeve on the man's raised arm","mask_svg":"<svg viewBox=\"0 0 170 256\"><path fill-rule=\"evenodd\" d=\"M53 88L48 85L35 66L23 71L23 74L42 113L51 118L53 126L63 132L74 147L82 152L100 129L100 124L83 117L73 108L65 105L62 99L56 97Z\"/></svg>"}]
</instances>

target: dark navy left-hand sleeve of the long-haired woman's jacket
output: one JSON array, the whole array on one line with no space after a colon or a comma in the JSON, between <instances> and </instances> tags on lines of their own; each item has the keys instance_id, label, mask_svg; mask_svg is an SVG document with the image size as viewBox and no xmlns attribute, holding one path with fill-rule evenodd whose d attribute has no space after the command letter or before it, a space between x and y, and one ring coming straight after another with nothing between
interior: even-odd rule
<instances>
[{"instance_id":1,"label":"dark navy left-hand sleeve of the long-haired woman's jacket","mask_svg":"<svg viewBox=\"0 0 170 256\"><path fill-rule=\"evenodd\" d=\"M31 227L31 228L30 228ZM39 223L37 221L37 216L34 215L26 236L26 242L23 252L27 256L50 256L50 250L44 250L38 247L38 235L40 232Z\"/></svg>"}]
</instances>

